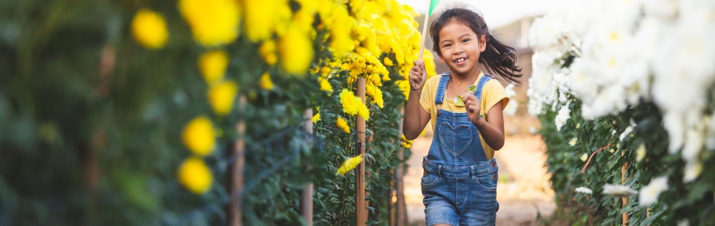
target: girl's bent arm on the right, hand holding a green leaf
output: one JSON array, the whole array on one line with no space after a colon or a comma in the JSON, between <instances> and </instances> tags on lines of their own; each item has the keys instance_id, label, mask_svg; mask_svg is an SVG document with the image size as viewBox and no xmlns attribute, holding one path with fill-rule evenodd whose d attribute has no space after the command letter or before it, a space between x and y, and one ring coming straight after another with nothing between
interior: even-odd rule
<instances>
[{"instance_id":1,"label":"girl's bent arm on the right, hand holding a green leaf","mask_svg":"<svg viewBox=\"0 0 715 226\"><path fill-rule=\"evenodd\" d=\"M504 146L504 115L502 115L501 101L489 109L487 113L489 121L479 115L479 100L473 93L464 94L464 104L467 107L469 119L477 127L487 145L494 150L501 149Z\"/></svg>"}]
</instances>

